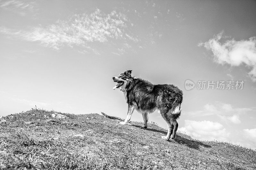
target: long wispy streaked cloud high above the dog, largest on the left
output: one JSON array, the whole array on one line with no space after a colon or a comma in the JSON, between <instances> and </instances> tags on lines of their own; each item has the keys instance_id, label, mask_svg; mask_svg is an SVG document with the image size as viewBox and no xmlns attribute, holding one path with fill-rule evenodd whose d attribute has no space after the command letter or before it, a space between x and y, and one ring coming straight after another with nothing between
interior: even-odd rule
<instances>
[{"instance_id":1,"label":"long wispy streaked cloud high above the dog, largest on the left","mask_svg":"<svg viewBox=\"0 0 256 170\"><path fill-rule=\"evenodd\" d=\"M121 40L122 42L138 42L138 38L127 34L128 20L122 13L112 11L105 14L96 9L90 15L75 14L68 20L59 20L46 27L34 27L30 31L15 31L1 27L0 33L20 37L26 41L38 41L46 47L60 49L64 46L74 48L83 46L88 48L93 42L108 42Z\"/></svg>"}]
</instances>

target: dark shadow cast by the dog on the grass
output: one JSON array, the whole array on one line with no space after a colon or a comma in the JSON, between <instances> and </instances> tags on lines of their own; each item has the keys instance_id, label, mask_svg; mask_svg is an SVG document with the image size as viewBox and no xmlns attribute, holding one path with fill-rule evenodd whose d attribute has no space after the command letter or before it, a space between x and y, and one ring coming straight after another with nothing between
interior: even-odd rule
<instances>
[{"instance_id":1,"label":"dark shadow cast by the dog on the grass","mask_svg":"<svg viewBox=\"0 0 256 170\"><path fill-rule=\"evenodd\" d=\"M144 129L141 126L138 126L138 125L132 125L132 126ZM150 131L153 131L153 132L162 133L164 135L166 135L166 133L167 133L166 131L163 131L163 130L150 129L150 128L147 128L145 130L150 130ZM174 140L170 139L170 141L168 141L168 142L177 142L178 144L185 144L188 147L193 148L193 149L202 149L203 147L206 147L206 148L211 148L212 147L208 144L204 144L202 142L199 142L199 141L196 141L196 140L193 140L193 139L187 139L187 138L181 137L180 135L176 135L176 138Z\"/></svg>"}]
</instances>

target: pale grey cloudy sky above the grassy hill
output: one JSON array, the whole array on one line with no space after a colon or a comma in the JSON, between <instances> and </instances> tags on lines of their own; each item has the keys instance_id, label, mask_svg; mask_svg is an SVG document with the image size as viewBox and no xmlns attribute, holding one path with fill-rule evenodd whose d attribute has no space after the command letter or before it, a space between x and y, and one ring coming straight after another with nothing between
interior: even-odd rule
<instances>
[{"instance_id":1,"label":"pale grey cloudy sky above the grassy hill","mask_svg":"<svg viewBox=\"0 0 256 170\"><path fill-rule=\"evenodd\" d=\"M184 93L178 131L256 149L256 1L0 0L0 116L125 118L112 77ZM137 111L132 121L143 121ZM154 112L149 122L166 128Z\"/></svg>"}]
</instances>

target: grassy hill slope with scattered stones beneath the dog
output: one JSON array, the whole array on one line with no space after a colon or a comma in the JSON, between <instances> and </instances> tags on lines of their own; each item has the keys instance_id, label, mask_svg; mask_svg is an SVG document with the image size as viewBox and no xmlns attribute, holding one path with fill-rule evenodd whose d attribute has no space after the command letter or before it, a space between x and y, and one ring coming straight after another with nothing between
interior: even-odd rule
<instances>
[{"instance_id":1,"label":"grassy hill slope with scattered stones beneath the dog","mask_svg":"<svg viewBox=\"0 0 256 170\"><path fill-rule=\"evenodd\" d=\"M256 169L256 152L244 147L180 133L165 141L155 124L58 114L32 109L1 118L0 169Z\"/></svg>"}]
</instances>

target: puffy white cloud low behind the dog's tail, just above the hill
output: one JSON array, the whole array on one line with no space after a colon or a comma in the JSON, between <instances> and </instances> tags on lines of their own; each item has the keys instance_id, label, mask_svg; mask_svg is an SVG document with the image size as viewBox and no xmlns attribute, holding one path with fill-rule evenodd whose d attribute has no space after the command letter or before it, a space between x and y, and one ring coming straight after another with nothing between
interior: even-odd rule
<instances>
[{"instance_id":1,"label":"puffy white cloud low behind the dog's tail, just above the hill","mask_svg":"<svg viewBox=\"0 0 256 170\"><path fill-rule=\"evenodd\" d=\"M192 138L208 141L228 141L229 133L219 122L185 120L185 126L179 129Z\"/></svg>"}]
</instances>

